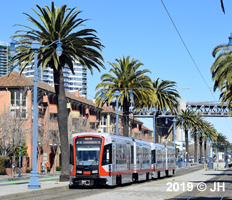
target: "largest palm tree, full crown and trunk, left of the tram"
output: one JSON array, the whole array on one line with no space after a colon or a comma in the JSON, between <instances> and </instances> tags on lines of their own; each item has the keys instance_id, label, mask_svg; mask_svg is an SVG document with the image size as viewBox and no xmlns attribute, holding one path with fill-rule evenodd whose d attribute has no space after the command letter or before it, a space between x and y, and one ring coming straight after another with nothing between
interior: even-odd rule
<instances>
[{"instance_id":1,"label":"largest palm tree, full crown and trunk, left of the tram","mask_svg":"<svg viewBox=\"0 0 232 200\"><path fill-rule=\"evenodd\" d=\"M20 43L22 44L31 43L31 41L35 40L45 46L58 39L62 42L63 53L60 57L56 55L56 44L52 44L40 50L38 52L38 66L42 65L43 69L45 67L53 69L62 156L60 180L63 181L69 178L69 141L67 101L62 69L67 65L72 73L74 73L73 63L79 61L84 67L87 67L91 73L93 72L93 67L100 71L99 66L104 68L102 63L103 58L99 53L103 45L96 37L96 31L94 29L81 29L76 31L76 28L83 26L83 23L86 21L77 18L81 11L76 10L76 8L69 9L67 5L56 8L53 2L51 4L51 9L47 6L42 8L38 5L37 8L39 12L33 10L38 15L40 21L24 13L28 17L28 21L37 29L19 25L26 30L17 31L16 35L12 36L12 38L20 38ZM26 32L26 34L24 32ZM19 44L17 53L18 54L12 58L10 66L17 64L20 66L22 72L27 65L33 62L34 52L29 47Z\"/></svg>"}]
</instances>

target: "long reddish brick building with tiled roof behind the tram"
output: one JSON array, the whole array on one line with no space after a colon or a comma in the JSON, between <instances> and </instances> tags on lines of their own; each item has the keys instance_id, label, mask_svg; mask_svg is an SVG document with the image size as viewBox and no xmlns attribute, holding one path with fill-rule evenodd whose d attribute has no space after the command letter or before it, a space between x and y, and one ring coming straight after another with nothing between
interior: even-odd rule
<instances>
[{"instance_id":1,"label":"long reddish brick building with tiled roof behind the tram","mask_svg":"<svg viewBox=\"0 0 232 200\"><path fill-rule=\"evenodd\" d=\"M4 144L10 144L13 140L17 146L19 135L26 141L29 158L27 162L24 159L22 172L25 172L27 168L32 168L33 88L34 80L26 78L18 72L12 72L9 76L5 75L0 78L0 122L6 123L6 121L9 121L9 127L12 128L12 125L14 127L14 129L10 129L6 128L6 125L4 127L0 126L0 138L2 138L5 131L7 133L5 135L9 137L1 140L1 142L5 142ZM60 166L60 142L55 90L44 82L38 82L37 97L37 167L38 171L40 171L41 163L49 161L51 170L55 170L56 166ZM97 107L93 101L80 97L78 91L74 95L66 91L66 98L69 113L69 136L74 132L90 130L115 133L116 111L113 108L106 105L102 108ZM119 118L121 117L122 113L119 112ZM16 122L20 122L20 126L16 126ZM152 131L144 127L141 121L130 117L130 124L130 136L152 141ZM15 134L12 135L13 133Z\"/></svg>"}]
</instances>

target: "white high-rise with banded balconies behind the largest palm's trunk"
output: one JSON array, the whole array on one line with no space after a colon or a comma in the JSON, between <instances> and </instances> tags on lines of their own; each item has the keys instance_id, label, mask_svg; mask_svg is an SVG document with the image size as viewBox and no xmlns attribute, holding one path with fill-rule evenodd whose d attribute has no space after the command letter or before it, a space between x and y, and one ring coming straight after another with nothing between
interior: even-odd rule
<instances>
[{"instance_id":1,"label":"white high-rise with banded balconies behind the largest palm's trunk","mask_svg":"<svg viewBox=\"0 0 232 200\"><path fill-rule=\"evenodd\" d=\"M79 62L74 64L74 75L67 66L63 68L64 73L64 87L65 89L74 94L79 90L80 96L87 96L87 69L84 68ZM22 74L28 78L34 77L34 67L27 66ZM42 72L41 67L38 68L38 80L43 81L54 87L53 70L49 67L45 68Z\"/></svg>"}]
</instances>

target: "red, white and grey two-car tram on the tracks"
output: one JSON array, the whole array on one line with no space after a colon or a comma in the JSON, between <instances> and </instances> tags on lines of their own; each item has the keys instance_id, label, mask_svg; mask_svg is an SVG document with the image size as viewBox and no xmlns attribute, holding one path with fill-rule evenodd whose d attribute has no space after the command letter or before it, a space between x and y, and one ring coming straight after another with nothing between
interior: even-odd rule
<instances>
[{"instance_id":1,"label":"red, white and grey two-car tram on the tracks","mask_svg":"<svg viewBox=\"0 0 232 200\"><path fill-rule=\"evenodd\" d=\"M120 185L175 173L174 148L108 133L70 140L70 188Z\"/></svg>"}]
</instances>

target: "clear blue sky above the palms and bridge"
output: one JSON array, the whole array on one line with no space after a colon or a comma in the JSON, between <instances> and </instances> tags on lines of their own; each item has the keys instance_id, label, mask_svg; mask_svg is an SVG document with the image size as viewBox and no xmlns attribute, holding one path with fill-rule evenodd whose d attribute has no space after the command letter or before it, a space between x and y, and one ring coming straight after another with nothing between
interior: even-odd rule
<instances>
[{"instance_id":1,"label":"clear blue sky above the palms and bridge","mask_svg":"<svg viewBox=\"0 0 232 200\"><path fill-rule=\"evenodd\" d=\"M232 1L224 0L225 14L220 0L55 0L55 6L67 4L77 7L82 13L79 18L89 19L86 28L97 31L105 46L102 55L106 69L88 74L88 99L95 96L95 87L101 75L110 70L109 62L130 56L149 69L147 75L175 81L181 99L187 102L219 101L219 92L211 92L213 82L210 67L215 58L213 49L228 43L232 32ZM163 3L168 10L169 18ZM10 36L20 30L15 24L30 26L28 13L38 11L36 5L50 6L50 0L12 0L1 2L0 41L10 43ZM84 27L83 27L84 28ZM180 37L181 36L181 37ZM182 38L182 39L181 39ZM185 45L183 44L184 41ZM188 51L186 50L186 47ZM190 56L191 55L191 56ZM219 133L232 142L231 118L205 118ZM152 128L152 119L141 119Z\"/></svg>"}]
</instances>

